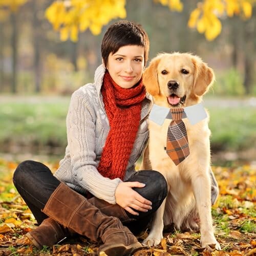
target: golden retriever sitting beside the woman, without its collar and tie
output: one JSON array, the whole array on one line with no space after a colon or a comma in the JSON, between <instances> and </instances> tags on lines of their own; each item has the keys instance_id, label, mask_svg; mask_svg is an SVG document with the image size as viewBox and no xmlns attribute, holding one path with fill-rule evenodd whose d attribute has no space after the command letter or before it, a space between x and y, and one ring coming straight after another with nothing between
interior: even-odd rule
<instances>
[{"instance_id":1,"label":"golden retriever sitting beside the woman, without its collar and tie","mask_svg":"<svg viewBox=\"0 0 256 256\"><path fill-rule=\"evenodd\" d=\"M154 103L165 108L185 108L198 104L214 82L211 68L200 57L189 53L162 53L145 69L143 81ZM210 130L207 118L192 125L182 119L187 130L190 154L178 165L166 154L166 136L170 119L162 125L148 121L150 138L140 169L160 172L168 184L168 195L157 210L145 245L157 245L163 238L163 227L198 229L201 246L215 245L210 198ZM200 224L197 219L199 217Z\"/></svg>"}]
</instances>

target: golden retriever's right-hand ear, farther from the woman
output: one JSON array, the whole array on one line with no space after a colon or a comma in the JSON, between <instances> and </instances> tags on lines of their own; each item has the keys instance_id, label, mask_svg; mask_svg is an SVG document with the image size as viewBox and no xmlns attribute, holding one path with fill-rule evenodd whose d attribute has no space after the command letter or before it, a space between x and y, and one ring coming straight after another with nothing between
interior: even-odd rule
<instances>
[{"instance_id":1,"label":"golden retriever's right-hand ear, farther from the woman","mask_svg":"<svg viewBox=\"0 0 256 256\"><path fill-rule=\"evenodd\" d=\"M194 64L193 91L196 95L202 96L215 81L214 71L197 56L193 56L192 62Z\"/></svg>"}]
</instances>

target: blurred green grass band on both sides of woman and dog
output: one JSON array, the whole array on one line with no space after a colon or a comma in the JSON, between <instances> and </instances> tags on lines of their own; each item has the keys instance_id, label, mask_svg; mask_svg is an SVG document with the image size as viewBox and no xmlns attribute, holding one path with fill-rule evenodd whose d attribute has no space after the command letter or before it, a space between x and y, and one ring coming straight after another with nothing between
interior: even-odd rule
<instances>
[{"instance_id":1,"label":"blurred green grass band on both sides of woman and dog","mask_svg":"<svg viewBox=\"0 0 256 256\"><path fill-rule=\"evenodd\" d=\"M38 148L46 150L52 146L59 147L59 152L65 152L69 100L70 97L0 97L0 152L10 151L13 145L30 148L32 153ZM207 109L210 113L212 151L239 151L255 147L255 107L230 108L217 103Z\"/></svg>"}]
</instances>

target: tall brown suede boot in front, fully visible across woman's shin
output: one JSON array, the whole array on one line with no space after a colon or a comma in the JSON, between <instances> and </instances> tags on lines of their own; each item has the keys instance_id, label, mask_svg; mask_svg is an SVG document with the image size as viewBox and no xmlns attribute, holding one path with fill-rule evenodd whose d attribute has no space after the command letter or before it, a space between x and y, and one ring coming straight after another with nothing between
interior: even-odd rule
<instances>
[{"instance_id":1,"label":"tall brown suede boot in front, fully visible across woman's shin","mask_svg":"<svg viewBox=\"0 0 256 256\"><path fill-rule=\"evenodd\" d=\"M42 210L47 216L94 241L105 243L98 254L129 255L142 245L116 217L108 217L86 198L60 183Z\"/></svg>"}]
</instances>

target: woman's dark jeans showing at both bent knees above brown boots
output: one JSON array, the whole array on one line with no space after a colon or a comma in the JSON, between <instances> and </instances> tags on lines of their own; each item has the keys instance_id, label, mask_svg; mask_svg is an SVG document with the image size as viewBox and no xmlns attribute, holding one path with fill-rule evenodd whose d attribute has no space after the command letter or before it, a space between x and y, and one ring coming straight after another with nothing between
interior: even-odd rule
<instances>
[{"instance_id":1,"label":"woman's dark jeans showing at both bent knees above brown boots","mask_svg":"<svg viewBox=\"0 0 256 256\"><path fill-rule=\"evenodd\" d=\"M125 223L125 225L134 233L138 233L150 222L153 213L166 197L167 183L164 177L154 170L136 172L127 181L139 181L146 184L143 188L135 187L133 189L152 202L152 210L139 212L139 216L132 215L126 211L126 214L135 219L135 221ZM53 176L51 170L42 163L31 160L24 161L17 166L13 175L13 183L32 211L37 223L40 224L44 219L48 218L41 209L45 207L53 191L60 184L60 181Z\"/></svg>"}]
</instances>

